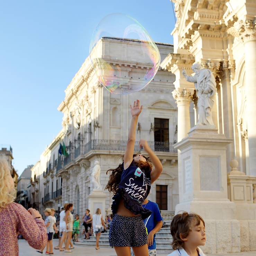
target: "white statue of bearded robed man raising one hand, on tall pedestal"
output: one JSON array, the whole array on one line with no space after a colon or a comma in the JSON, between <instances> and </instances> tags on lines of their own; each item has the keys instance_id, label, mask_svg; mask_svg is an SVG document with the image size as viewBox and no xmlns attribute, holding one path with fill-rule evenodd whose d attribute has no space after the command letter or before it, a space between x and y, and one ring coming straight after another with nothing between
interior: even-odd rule
<instances>
[{"instance_id":1,"label":"white statue of bearded robed man raising one hand, on tall pedestal","mask_svg":"<svg viewBox=\"0 0 256 256\"><path fill-rule=\"evenodd\" d=\"M212 72L209 69L202 69L199 63L192 66L195 75L187 76L186 71L182 74L188 82L195 83L198 101L198 122L197 125L214 125L212 120L212 107L214 104L214 95L216 93L216 82Z\"/></svg>"}]
</instances>

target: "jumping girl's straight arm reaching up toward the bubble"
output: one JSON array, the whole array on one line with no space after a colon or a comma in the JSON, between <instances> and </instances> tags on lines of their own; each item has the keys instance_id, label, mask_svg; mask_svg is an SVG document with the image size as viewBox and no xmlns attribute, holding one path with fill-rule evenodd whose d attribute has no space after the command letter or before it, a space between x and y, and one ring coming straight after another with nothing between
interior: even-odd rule
<instances>
[{"instance_id":1,"label":"jumping girl's straight arm reaching up toward the bubble","mask_svg":"<svg viewBox=\"0 0 256 256\"><path fill-rule=\"evenodd\" d=\"M133 160L133 151L136 139L136 126L138 123L138 117L143 109L143 106L140 107L140 100L137 99L136 101L134 101L133 107L132 105L130 105L130 109L132 120L128 134L128 141L124 153L124 169L127 169Z\"/></svg>"}]
</instances>

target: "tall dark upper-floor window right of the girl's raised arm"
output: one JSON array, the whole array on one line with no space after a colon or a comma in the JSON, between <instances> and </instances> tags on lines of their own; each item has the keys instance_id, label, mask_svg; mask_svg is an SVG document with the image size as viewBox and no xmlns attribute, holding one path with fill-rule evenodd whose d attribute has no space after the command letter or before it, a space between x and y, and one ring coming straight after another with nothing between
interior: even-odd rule
<instances>
[{"instance_id":1,"label":"tall dark upper-floor window right of the girl's raised arm","mask_svg":"<svg viewBox=\"0 0 256 256\"><path fill-rule=\"evenodd\" d=\"M169 119L155 118L155 151L169 151Z\"/></svg>"}]
</instances>

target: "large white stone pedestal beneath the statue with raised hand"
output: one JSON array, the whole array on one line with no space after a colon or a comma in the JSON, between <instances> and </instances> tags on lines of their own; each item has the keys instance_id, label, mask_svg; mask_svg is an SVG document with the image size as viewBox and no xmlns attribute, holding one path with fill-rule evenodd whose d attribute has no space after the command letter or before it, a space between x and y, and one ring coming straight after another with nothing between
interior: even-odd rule
<instances>
[{"instance_id":1,"label":"large white stone pedestal beneath the statue with raised hand","mask_svg":"<svg viewBox=\"0 0 256 256\"><path fill-rule=\"evenodd\" d=\"M194 212L205 220L207 235L203 251L240 251L240 223L236 206L228 199L226 146L232 142L215 126L196 125L178 149L179 211Z\"/></svg>"}]
</instances>

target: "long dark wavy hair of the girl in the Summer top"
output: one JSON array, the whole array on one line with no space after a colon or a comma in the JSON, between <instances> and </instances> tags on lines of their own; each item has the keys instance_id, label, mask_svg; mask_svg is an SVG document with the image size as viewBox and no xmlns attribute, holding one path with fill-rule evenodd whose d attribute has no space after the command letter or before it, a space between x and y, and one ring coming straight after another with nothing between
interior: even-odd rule
<instances>
[{"instance_id":1,"label":"long dark wavy hair of the girl in the Summer top","mask_svg":"<svg viewBox=\"0 0 256 256\"><path fill-rule=\"evenodd\" d=\"M133 154L132 157L138 156L139 154ZM137 167L140 167L140 169L143 169L145 171L145 174L150 173L150 171L152 170L152 162L150 161L149 157L145 157L146 162L134 162L134 160L132 160L132 164L131 165L136 165ZM120 156L118 159L122 158L122 162L124 161L124 156ZM117 193L117 189L118 189L118 185L121 181L121 175L123 172L123 167L122 164L119 164L118 167L116 167L115 169L109 169L107 170L107 174L109 171L112 171L111 175L109 175L109 180L107 183L107 186L105 187L105 189L108 189L109 192L113 192L114 195Z\"/></svg>"}]
</instances>

